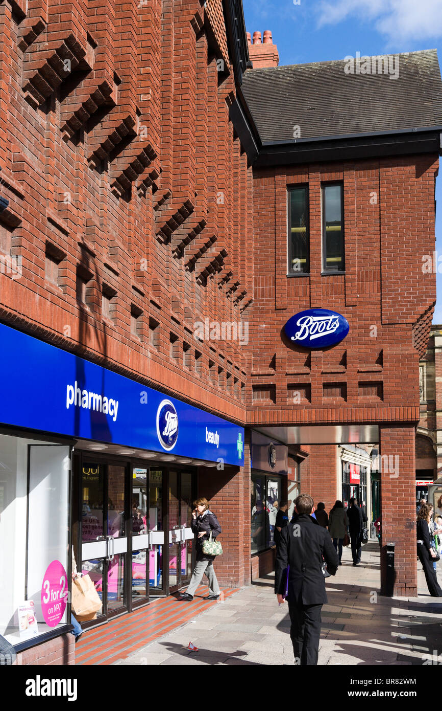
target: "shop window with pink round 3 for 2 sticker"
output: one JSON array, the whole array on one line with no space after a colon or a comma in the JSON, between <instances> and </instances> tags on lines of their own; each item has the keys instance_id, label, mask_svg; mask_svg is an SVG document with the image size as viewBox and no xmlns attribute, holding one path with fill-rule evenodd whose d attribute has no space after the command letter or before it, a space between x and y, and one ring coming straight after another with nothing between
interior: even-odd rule
<instances>
[{"instance_id":1,"label":"shop window with pink round 3 for 2 sticker","mask_svg":"<svg viewBox=\"0 0 442 711\"><path fill-rule=\"evenodd\" d=\"M0 435L0 453L0 634L18 644L70 622L70 451Z\"/></svg>"}]
</instances>

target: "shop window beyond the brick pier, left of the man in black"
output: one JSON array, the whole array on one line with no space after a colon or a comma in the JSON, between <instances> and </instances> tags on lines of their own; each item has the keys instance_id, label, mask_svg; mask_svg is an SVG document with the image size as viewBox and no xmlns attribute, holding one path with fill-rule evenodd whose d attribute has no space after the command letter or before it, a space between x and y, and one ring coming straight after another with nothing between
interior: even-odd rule
<instances>
[{"instance_id":1,"label":"shop window beyond the brick pier, left of the man in black","mask_svg":"<svg viewBox=\"0 0 442 711\"><path fill-rule=\"evenodd\" d=\"M252 475L251 552L272 547L278 503L282 497L280 477Z\"/></svg>"}]
</instances>

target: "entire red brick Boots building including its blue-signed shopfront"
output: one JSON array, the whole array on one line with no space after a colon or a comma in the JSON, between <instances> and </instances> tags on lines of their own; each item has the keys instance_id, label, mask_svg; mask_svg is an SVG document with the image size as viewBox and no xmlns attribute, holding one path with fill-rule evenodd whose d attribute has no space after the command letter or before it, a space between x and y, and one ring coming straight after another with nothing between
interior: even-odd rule
<instances>
[{"instance_id":1,"label":"entire red brick Boots building including its blue-signed shopfront","mask_svg":"<svg viewBox=\"0 0 442 711\"><path fill-rule=\"evenodd\" d=\"M6 0L0 38L0 533L13 540L0 559L0 634L22 663L72 663L69 606L43 614L46 592L60 592L50 565L70 582L72 547L99 590L98 621L185 587L196 496L223 528L220 584L248 584L251 554L255 570L271 562L272 504L287 488L327 508L337 498L341 442L400 454L399 476L382 479L382 545L397 543L396 592L414 594L436 55L410 55L397 82L366 85L326 63L313 91L309 65L277 68L268 34L270 68L251 68L260 53L249 58L239 0ZM342 186L345 235L345 270L325 274L324 183ZM302 275L287 267L297 186L308 188ZM346 316L346 339L292 346L285 322L321 307ZM197 426L205 442L193 445Z\"/></svg>"}]
</instances>

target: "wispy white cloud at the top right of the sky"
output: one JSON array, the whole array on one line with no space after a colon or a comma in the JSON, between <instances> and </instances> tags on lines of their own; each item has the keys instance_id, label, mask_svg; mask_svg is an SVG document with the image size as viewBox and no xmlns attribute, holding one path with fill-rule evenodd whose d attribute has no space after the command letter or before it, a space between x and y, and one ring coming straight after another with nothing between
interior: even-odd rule
<instances>
[{"instance_id":1,"label":"wispy white cloud at the top right of the sky","mask_svg":"<svg viewBox=\"0 0 442 711\"><path fill-rule=\"evenodd\" d=\"M442 36L442 0L321 0L318 26L350 17L375 20L375 28L392 43Z\"/></svg>"}]
</instances>

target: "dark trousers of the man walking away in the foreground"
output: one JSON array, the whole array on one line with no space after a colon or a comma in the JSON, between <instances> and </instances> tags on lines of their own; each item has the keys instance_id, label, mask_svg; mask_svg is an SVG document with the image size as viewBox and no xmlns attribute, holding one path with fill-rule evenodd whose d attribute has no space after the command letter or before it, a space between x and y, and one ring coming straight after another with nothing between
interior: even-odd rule
<instances>
[{"instance_id":1,"label":"dark trousers of the man walking away in the foreground","mask_svg":"<svg viewBox=\"0 0 442 711\"><path fill-rule=\"evenodd\" d=\"M295 664L314 666L318 663L319 638L321 636L322 605L303 605L289 602Z\"/></svg>"}]
</instances>

